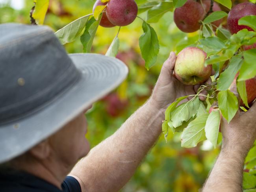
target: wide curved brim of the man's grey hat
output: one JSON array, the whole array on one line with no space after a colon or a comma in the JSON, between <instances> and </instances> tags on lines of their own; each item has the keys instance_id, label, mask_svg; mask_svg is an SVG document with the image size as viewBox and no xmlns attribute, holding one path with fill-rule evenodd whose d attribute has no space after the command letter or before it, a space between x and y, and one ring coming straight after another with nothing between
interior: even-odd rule
<instances>
[{"instance_id":1,"label":"wide curved brim of the man's grey hat","mask_svg":"<svg viewBox=\"0 0 256 192\"><path fill-rule=\"evenodd\" d=\"M114 57L69 54L82 78L47 107L11 124L0 126L0 163L13 159L49 137L86 107L115 89L128 68Z\"/></svg>"}]
</instances>

